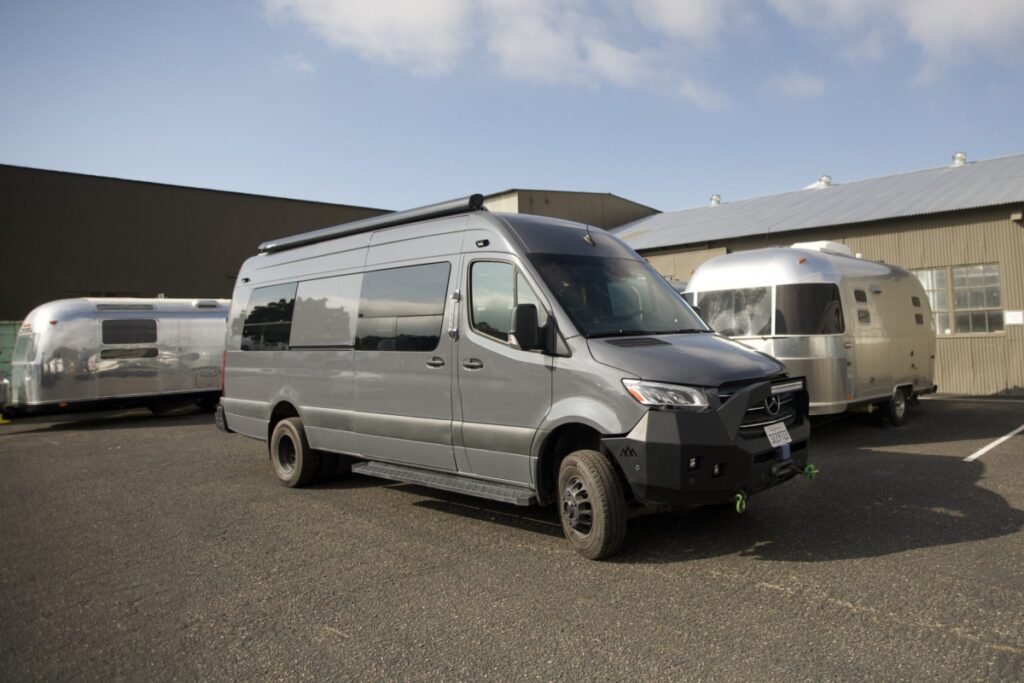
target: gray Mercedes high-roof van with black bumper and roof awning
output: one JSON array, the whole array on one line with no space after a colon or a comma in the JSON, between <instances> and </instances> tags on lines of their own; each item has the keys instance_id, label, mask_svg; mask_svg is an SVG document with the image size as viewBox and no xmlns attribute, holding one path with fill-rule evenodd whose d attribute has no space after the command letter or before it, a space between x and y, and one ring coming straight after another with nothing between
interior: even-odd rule
<instances>
[{"instance_id":1,"label":"gray Mercedes high-roof van with black bumper and roof awning","mask_svg":"<svg viewBox=\"0 0 1024 683\"><path fill-rule=\"evenodd\" d=\"M217 423L287 486L356 472L557 503L571 546L730 504L807 466L808 399L636 252L474 195L260 246L228 314Z\"/></svg>"}]
</instances>

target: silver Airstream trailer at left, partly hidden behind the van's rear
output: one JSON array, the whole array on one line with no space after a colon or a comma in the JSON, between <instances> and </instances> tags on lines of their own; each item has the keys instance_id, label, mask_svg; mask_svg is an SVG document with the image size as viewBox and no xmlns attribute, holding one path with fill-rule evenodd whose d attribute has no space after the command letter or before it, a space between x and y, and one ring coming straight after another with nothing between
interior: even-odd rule
<instances>
[{"instance_id":1,"label":"silver Airstream trailer at left, partly hidden behind the van's rear","mask_svg":"<svg viewBox=\"0 0 1024 683\"><path fill-rule=\"evenodd\" d=\"M220 395L223 299L61 299L22 324L6 416L144 405L155 413ZM3 382L7 382L3 380Z\"/></svg>"}]
</instances>

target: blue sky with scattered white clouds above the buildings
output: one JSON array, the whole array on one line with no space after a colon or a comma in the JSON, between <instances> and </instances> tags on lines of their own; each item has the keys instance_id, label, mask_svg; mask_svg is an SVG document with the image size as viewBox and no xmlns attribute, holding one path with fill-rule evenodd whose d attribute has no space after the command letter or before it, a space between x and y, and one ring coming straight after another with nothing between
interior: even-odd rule
<instances>
[{"instance_id":1,"label":"blue sky with scattered white clouds above the buildings","mask_svg":"<svg viewBox=\"0 0 1024 683\"><path fill-rule=\"evenodd\" d=\"M1024 153L1022 0L0 0L0 163L660 210Z\"/></svg>"}]
</instances>

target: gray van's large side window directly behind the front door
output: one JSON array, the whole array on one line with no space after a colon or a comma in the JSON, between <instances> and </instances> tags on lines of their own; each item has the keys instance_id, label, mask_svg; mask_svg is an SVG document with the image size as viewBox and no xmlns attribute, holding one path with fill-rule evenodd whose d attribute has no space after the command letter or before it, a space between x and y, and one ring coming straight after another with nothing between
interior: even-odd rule
<instances>
[{"instance_id":1,"label":"gray van's large side window directly behind the front door","mask_svg":"<svg viewBox=\"0 0 1024 683\"><path fill-rule=\"evenodd\" d=\"M440 342L447 263L364 273L355 349L432 351Z\"/></svg>"}]
</instances>

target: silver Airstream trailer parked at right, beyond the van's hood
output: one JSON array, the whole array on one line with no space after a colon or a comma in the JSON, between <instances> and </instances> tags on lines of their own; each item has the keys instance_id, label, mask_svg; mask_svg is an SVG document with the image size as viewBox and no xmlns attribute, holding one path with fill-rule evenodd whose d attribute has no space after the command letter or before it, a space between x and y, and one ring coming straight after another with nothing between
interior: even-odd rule
<instances>
[{"instance_id":1,"label":"silver Airstream trailer parked at right, beyond the van's hood","mask_svg":"<svg viewBox=\"0 0 1024 683\"><path fill-rule=\"evenodd\" d=\"M899 425L908 402L935 391L935 329L921 283L845 245L718 256L696 269L685 296L712 329L806 377L811 415L878 407Z\"/></svg>"}]
</instances>

